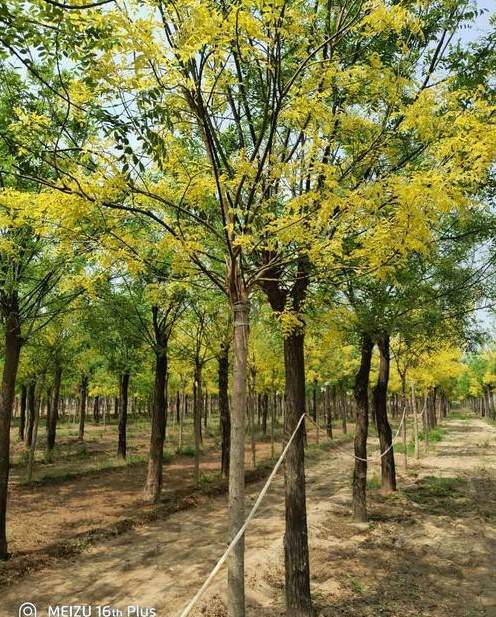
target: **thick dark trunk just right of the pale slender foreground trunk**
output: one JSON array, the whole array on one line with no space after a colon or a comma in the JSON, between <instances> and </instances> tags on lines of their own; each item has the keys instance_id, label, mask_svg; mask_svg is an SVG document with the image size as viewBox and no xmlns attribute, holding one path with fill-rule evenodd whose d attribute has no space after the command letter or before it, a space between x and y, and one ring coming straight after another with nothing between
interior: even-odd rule
<instances>
[{"instance_id":1,"label":"thick dark trunk just right of the pale slender foreground trunk","mask_svg":"<svg viewBox=\"0 0 496 617\"><path fill-rule=\"evenodd\" d=\"M305 412L304 334L295 332L284 339L286 381L286 438L292 435ZM286 615L314 615L310 596L310 560L305 495L304 431L296 434L286 455L285 467L286 532L284 561L286 573Z\"/></svg>"}]
</instances>

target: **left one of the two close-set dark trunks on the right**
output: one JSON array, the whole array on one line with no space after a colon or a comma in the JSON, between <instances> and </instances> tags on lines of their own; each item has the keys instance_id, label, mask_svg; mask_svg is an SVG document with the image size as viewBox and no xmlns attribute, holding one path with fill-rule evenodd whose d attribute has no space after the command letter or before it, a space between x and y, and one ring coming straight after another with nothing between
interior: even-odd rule
<instances>
[{"instance_id":1,"label":"left one of the two close-set dark trunks on the right","mask_svg":"<svg viewBox=\"0 0 496 617\"><path fill-rule=\"evenodd\" d=\"M367 516L367 437L369 433L369 377L374 344L362 335L360 367L355 376L356 401L355 468L353 470L353 520L366 522Z\"/></svg>"}]
</instances>

